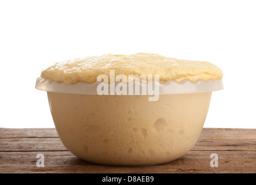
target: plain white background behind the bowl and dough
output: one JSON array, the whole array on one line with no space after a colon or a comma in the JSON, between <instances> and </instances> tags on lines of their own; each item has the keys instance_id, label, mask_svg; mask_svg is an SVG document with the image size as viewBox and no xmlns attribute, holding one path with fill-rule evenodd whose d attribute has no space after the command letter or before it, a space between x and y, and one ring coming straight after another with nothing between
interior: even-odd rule
<instances>
[{"instance_id":1,"label":"plain white background behind the bowl and dough","mask_svg":"<svg viewBox=\"0 0 256 185\"><path fill-rule=\"evenodd\" d=\"M0 1L0 127L54 127L46 66L145 52L219 66L204 127L256 128L255 35L255 1Z\"/></svg>"}]
</instances>

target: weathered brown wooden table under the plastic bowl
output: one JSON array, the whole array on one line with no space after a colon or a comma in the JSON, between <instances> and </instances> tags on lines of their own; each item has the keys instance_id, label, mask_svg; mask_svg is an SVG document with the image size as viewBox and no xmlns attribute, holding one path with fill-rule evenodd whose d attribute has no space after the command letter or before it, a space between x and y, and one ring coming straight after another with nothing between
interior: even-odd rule
<instances>
[{"instance_id":1,"label":"weathered brown wooden table under the plastic bowl","mask_svg":"<svg viewBox=\"0 0 256 185\"><path fill-rule=\"evenodd\" d=\"M45 157L40 168L39 153ZM210 165L217 160L210 158L212 153L218 155L218 167ZM153 166L105 166L71 154L55 128L0 128L0 173L256 173L256 129L203 128L193 149L178 160Z\"/></svg>"}]
</instances>

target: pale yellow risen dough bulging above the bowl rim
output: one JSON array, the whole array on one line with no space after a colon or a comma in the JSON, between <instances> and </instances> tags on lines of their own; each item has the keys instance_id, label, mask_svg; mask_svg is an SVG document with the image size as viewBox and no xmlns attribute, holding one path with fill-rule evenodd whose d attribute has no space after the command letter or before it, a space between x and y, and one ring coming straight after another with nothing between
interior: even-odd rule
<instances>
[{"instance_id":1,"label":"pale yellow risen dough bulging above the bowl rim","mask_svg":"<svg viewBox=\"0 0 256 185\"><path fill-rule=\"evenodd\" d=\"M204 61L178 60L159 54L137 53L76 58L57 62L42 71L41 77L60 83L94 83L98 75L107 75L115 70L116 75L159 75L160 82L173 80L215 80L222 78L217 66ZM110 77L109 77L110 78Z\"/></svg>"}]
</instances>

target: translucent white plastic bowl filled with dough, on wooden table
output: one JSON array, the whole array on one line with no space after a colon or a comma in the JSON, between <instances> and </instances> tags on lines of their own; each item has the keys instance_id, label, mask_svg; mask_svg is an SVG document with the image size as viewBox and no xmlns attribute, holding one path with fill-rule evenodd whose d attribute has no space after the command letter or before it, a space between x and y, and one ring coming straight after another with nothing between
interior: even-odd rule
<instances>
[{"instance_id":1,"label":"translucent white plastic bowl filled with dough, on wooden table","mask_svg":"<svg viewBox=\"0 0 256 185\"><path fill-rule=\"evenodd\" d=\"M222 80L169 81L151 95L98 95L98 82L65 84L38 78L63 145L96 164L155 165L184 156L202 131L212 91Z\"/></svg>"}]
</instances>

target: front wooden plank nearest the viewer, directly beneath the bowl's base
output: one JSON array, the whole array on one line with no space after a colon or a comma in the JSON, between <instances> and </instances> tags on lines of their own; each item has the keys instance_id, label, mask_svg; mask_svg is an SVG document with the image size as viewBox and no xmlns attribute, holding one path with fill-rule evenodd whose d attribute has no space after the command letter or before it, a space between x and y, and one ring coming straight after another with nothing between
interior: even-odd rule
<instances>
[{"instance_id":1,"label":"front wooden plank nearest the viewer, directly beneath the bowl's base","mask_svg":"<svg viewBox=\"0 0 256 185\"><path fill-rule=\"evenodd\" d=\"M210 154L218 154L218 167ZM256 173L255 151L189 151L162 165L107 166L83 161L68 151L43 151L45 167L36 166L36 151L0 152L1 173Z\"/></svg>"}]
</instances>

